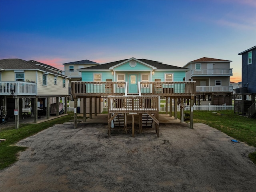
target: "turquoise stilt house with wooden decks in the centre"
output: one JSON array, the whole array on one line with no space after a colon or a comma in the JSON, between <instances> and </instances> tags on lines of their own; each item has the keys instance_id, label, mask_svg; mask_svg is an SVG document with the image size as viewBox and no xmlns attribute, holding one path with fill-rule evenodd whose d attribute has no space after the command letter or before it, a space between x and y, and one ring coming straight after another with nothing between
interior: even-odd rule
<instances>
[{"instance_id":1,"label":"turquoise stilt house with wooden decks in the centre","mask_svg":"<svg viewBox=\"0 0 256 192\"><path fill-rule=\"evenodd\" d=\"M145 114L148 115L145 117L146 119L152 118L159 124L158 108L161 96L174 98L175 105L177 105L178 99L181 101L188 99L192 104L194 103L195 82L185 82L188 70L147 59L124 59L79 69L82 81L72 82L71 93L75 105L78 98L90 100L81 106L85 109L86 103L90 104L90 118L93 113L92 99L95 101L94 114L96 116L97 113L100 113L97 104L100 101L97 100L108 98L109 126L111 120L119 117L120 114L124 114L124 118L122 118L124 126L126 126L127 114L140 114L140 120ZM167 102L166 99L166 107ZM84 120L86 119L84 118ZM192 126L192 123L190 125Z\"/></svg>"}]
</instances>

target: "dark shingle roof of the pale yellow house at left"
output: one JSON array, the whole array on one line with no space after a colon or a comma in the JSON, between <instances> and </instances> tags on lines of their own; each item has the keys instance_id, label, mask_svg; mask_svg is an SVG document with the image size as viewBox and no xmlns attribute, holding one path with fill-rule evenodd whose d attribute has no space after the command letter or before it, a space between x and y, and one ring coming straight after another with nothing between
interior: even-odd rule
<instances>
[{"instance_id":1,"label":"dark shingle roof of the pale yellow house at left","mask_svg":"<svg viewBox=\"0 0 256 192\"><path fill-rule=\"evenodd\" d=\"M61 73L57 73L53 70L45 68L42 65L34 64L32 60L28 62L22 59L1 59L0 68L3 70L40 70L70 79L69 77L62 75Z\"/></svg>"}]
</instances>

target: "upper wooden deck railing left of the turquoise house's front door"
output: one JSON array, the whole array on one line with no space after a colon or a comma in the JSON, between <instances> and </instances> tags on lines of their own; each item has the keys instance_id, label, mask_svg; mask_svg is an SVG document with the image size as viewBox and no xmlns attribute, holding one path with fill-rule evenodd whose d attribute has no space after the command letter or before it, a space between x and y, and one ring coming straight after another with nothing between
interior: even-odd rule
<instances>
[{"instance_id":1,"label":"upper wooden deck railing left of the turquoise house's front door","mask_svg":"<svg viewBox=\"0 0 256 192\"><path fill-rule=\"evenodd\" d=\"M71 82L72 95L126 95L127 82Z\"/></svg>"}]
</instances>

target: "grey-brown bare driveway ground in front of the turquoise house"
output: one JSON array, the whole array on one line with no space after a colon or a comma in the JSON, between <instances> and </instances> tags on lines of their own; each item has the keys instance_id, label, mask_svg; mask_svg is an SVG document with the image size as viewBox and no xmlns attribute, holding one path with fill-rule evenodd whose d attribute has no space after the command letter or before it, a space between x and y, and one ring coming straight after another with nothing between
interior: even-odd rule
<instances>
[{"instance_id":1,"label":"grey-brown bare driveway ground in front of the turquoise house","mask_svg":"<svg viewBox=\"0 0 256 192\"><path fill-rule=\"evenodd\" d=\"M0 171L3 192L255 192L256 149L205 124L160 124L143 134L106 124L50 127Z\"/></svg>"}]
</instances>

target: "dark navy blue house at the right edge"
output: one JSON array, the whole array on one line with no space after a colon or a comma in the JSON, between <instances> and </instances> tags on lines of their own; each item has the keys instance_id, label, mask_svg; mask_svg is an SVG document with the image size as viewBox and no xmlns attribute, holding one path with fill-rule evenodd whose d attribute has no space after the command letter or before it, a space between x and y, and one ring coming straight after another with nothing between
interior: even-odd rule
<instances>
[{"instance_id":1,"label":"dark navy blue house at the right edge","mask_svg":"<svg viewBox=\"0 0 256 192\"><path fill-rule=\"evenodd\" d=\"M256 117L256 46L238 55L242 55L242 88L236 92L234 111Z\"/></svg>"}]
</instances>

